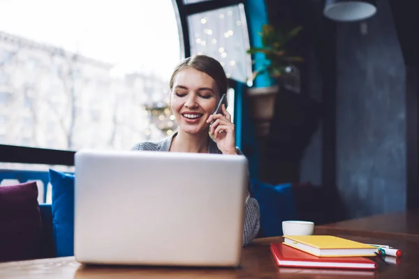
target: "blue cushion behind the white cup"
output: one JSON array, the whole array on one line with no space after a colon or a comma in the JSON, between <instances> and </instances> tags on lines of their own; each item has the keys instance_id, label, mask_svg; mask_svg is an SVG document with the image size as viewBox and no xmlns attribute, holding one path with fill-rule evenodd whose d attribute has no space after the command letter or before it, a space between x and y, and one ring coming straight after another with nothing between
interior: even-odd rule
<instances>
[{"instance_id":1,"label":"blue cushion behind the white cup","mask_svg":"<svg viewBox=\"0 0 419 279\"><path fill-rule=\"evenodd\" d=\"M262 236L283 235L282 221L298 220L291 183L273 186L252 179L251 188L260 206Z\"/></svg>"}]
</instances>

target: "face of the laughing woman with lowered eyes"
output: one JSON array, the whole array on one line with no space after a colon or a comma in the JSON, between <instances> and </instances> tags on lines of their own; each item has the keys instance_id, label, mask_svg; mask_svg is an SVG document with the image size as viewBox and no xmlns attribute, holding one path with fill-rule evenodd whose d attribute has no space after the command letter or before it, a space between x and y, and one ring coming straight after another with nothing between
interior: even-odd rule
<instances>
[{"instance_id":1,"label":"face of the laughing woman with lowered eyes","mask_svg":"<svg viewBox=\"0 0 419 279\"><path fill-rule=\"evenodd\" d=\"M215 81L199 70L185 68L173 81L170 106L185 133L207 133L208 117L214 113L219 102L219 89Z\"/></svg>"}]
</instances>

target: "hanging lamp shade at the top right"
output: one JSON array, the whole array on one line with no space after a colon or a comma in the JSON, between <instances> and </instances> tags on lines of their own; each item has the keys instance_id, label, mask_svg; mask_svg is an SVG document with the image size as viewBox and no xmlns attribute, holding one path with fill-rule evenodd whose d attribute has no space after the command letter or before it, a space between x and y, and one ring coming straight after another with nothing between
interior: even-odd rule
<instances>
[{"instance_id":1,"label":"hanging lamp shade at the top right","mask_svg":"<svg viewBox=\"0 0 419 279\"><path fill-rule=\"evenodd\" d=\"M374 0L326 0L323 14L330 20L355 22L372 17L376 11Z\"/></svg>"}]
</instances>

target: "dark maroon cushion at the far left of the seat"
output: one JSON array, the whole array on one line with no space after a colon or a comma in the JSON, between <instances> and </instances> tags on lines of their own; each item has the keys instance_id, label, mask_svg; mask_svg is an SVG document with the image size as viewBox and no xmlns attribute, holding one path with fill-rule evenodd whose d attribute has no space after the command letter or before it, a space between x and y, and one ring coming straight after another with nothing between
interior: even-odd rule
<instances>
[{"instance_id":1,"label":"dark maroon cushion at the far left of the seat","mask_svg":"<svg viewBox=\"0 0 419 279\"><path fill-rule=\"evenodd\" d=\"M0 186L0 262L41 257L41 241L36 182Z\"/></svg>"}]
</instances>

